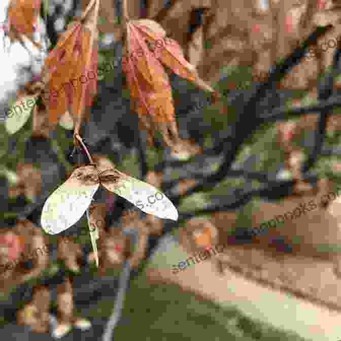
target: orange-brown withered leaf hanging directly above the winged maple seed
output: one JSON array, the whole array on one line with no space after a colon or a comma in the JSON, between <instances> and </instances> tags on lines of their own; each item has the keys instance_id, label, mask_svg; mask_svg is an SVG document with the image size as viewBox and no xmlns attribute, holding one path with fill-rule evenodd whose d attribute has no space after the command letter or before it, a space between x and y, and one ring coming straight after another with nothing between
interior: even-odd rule
<instances>
[{"instance_id":1,"label":"orange-brown withered leaf hanging directly above the winged maple seed","mask_svg":"<svg viewBox=\"0 0 341 341\"><path fill-rule=\"evenodd\" d=\"M82 109L91 105L97 92L97 32L89 47L91 33L89 22L72 22L45 59L43 72L48 96L44 95L43 99L51 124L69 111L75 131L79 129L85 118Z\"/></svg>"}]
</instances>

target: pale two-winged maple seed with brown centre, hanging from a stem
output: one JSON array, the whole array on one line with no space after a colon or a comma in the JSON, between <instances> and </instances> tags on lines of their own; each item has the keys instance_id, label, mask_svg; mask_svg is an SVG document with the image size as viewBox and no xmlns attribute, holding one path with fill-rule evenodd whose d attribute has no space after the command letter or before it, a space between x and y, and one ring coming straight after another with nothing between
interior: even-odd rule
<instances>
[{"instance_id":1,"label":"pale two-winged maple seed with brown centre, hanging from a stem","mask_svg":"<svg viewBox=\"0 0 341 341\"><path fill-rule=\"evenodd\" d=\"M103 173L107 175L103 176ZM159 192L155 187L116 169L93 165L79 167L46 200L41 217L43 229L47 233L55 234L74 225L89 208L100 184L135 206L140 199L147 201L148 197ZM138 191L140 195L136 197L133 190ZM152 207L141 210L163 219L178 219L177 209L165 195Z\"/></svg>"}]
</instances>

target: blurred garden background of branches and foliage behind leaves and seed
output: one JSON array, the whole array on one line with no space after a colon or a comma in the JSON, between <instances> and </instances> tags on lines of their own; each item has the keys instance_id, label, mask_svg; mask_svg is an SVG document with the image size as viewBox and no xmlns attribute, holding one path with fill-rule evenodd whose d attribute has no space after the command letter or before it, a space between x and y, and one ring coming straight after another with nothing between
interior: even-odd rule
<instances>
[{"instance_id":1,"label":"blurred garden background of branches and foliage behind leaves and seed","mask_svg":"<svg viewBox=\"0 0 341 341\"><path fill-rule=\"evenodd\" d=\"M50 129L39 112L4 114L32 96L47 51L88 3L42 1L41 50L0 31L0 335L341 338L341 3L127 0L130 18L160 23L221 94L214 101L168 70L180 137L169 147L159 133L148 143L131 109L121 2L101 0L98 67L106 72L82 137L96 162L160 188L179 221L101 188L98 269L85 217L59 235L40 225L46 198L87 162L74 150L70 115Z\"/></svg>"}]
</instances>

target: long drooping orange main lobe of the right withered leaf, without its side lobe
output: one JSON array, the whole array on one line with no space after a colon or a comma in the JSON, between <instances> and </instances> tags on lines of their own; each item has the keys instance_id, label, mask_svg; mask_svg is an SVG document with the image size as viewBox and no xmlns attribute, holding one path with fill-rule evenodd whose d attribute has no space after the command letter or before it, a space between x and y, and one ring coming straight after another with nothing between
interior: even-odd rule
<instances>
[{"instance_id":1,"label":"long drooping orange main lobe of the right withered leaf, without its side lobe","mask_svg":"<svg viewBox=\"0 0 341 341\"><path fill-rule=\"evenodd\" d=\"M155 129L162 132L164 141L172 146L178 139L175 125L172 88L161 63L148 49L143 36L132 24L128 24L128 61L122 64L130 95L140 124L146 129L151 143ZM133 53L141 55L130 58ZM172 141L173 140L173 141Z\"/></svg>"}]
</instances>

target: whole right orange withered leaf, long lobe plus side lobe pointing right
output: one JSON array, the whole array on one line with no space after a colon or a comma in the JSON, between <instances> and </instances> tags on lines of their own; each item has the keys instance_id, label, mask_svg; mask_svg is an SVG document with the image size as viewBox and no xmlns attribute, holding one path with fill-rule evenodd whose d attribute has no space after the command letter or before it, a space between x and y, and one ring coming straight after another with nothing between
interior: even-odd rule
<instances>
[{"instance_id":1,"label":"whole right orange withered leaf, long lobe plus side lobe pointing right","mask_svg":"<svg viewBox=\"0 0 341 341\"><path fill-rule=\"evenodd\" d=\"M165 39L165 34L162 26L153 20L128 21L127 46L123 52L123 55L127 54L127 62L122 63L122 71L126 74L130 95L135 99L134 109L140 124L147 130L148 142L151 144L153 131L158 129L165 143L174 146L179 137L172 89L160 62L200 88L214 90L197 76L180 45L172 39Z\"/></svg>"}]
</instances>

